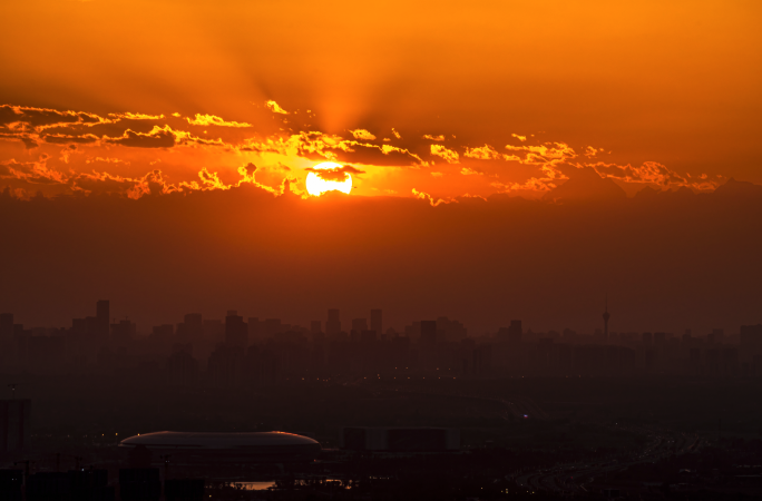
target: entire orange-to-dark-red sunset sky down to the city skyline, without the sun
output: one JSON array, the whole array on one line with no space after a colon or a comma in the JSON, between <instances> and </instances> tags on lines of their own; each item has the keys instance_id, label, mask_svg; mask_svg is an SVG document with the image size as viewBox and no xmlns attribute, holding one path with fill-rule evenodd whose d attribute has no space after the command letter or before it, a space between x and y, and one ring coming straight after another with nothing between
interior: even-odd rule
<instances>
[{"instance_id":1,"label":"entire orange-to-dark-red sunset sky down to the city skyline, without the sun","mask_svg":"<svg viewBox=\"0 0 762 501\"><path fill-rule=\"evenodd\" d=\"M0 19L0 310L22 322L110 298L141 326L382 307L592 330L606 292L614 330L760 321L762 205L722 191L762 184L758 1L11 0ZM351 194L311 197L311 174Z\"/></svg>"}]
</instances>

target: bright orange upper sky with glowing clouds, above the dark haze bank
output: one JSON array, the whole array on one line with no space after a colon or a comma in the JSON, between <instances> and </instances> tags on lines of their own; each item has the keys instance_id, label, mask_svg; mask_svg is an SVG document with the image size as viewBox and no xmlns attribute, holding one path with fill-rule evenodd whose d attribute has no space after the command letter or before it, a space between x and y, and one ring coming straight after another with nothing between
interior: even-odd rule
<instances>
[{"instance_id":1,"label":"bright orange upper sky with glowing clouds, above the dark haze bank","mask_svg":"<svg viewBox=\"0 0 762 501\"><path fill-rule=\"evenodd\" d=\"M302 194L304 169L332 159L363 173L364 196L533 197L589 167L629 195L762 183L761 12L3 2L0 187L139 197L290 179Z\"/></svg>"}]
</instances>

